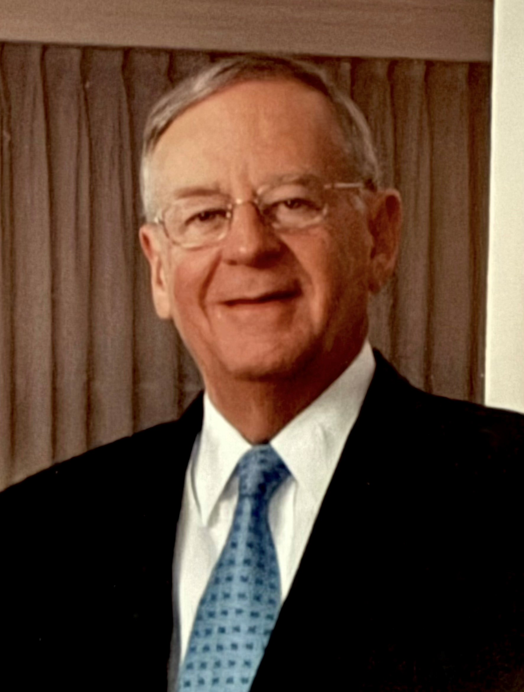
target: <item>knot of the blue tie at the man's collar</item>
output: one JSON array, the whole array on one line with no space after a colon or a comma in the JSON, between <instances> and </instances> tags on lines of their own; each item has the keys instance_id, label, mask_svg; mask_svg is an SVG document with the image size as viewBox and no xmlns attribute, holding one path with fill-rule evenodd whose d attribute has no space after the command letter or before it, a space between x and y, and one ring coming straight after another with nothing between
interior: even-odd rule
<instances>
[{"instance_id":1,"label":"knot of the blue tie at the man's collar","mask_svg":"<svg viewBox=\"0 0 524 692\"><path fill-rule=\"evenodd\" d=\"M289 475L288 467L269 444L253 447L238 462L240 497L252 495L269 502Z\"/></svg>"}]
</instances>

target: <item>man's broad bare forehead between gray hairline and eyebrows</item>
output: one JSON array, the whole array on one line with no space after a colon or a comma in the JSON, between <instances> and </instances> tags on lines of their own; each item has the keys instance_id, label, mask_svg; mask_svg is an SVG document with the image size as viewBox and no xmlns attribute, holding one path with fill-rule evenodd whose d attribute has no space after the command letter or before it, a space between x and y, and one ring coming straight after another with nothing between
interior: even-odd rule
<instances>
[{"instance_id":1,"label":"man's broad bare forehead between gray hairline and eyebrows","mask_svg":"<svg viewBox=\"0 0 524 692\"><path fill-rule=\"evenodd\" d=\"M241 82L192 105L162 134L150 158L158 192L246 176L317 172L341 163L344 140L324 94L294 80Z\"/></svg>"}]
</instances>

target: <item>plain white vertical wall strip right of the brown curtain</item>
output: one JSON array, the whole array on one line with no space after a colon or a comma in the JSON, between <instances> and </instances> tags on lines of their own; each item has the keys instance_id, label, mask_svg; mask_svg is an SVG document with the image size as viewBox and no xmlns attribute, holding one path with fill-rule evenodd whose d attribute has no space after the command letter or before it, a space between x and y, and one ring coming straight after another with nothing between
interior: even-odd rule
<instances>
[{"instance_id":1,"label":"plain white vertical wall strip right of the brown curtain","mask_svg":"<svg viewBox=\"0 0 524 692\"><path fill-rule=\"evenodd\" d=\"M496 0L486 403L524 412L524 0Z\"/></svg>"}]
</instances>

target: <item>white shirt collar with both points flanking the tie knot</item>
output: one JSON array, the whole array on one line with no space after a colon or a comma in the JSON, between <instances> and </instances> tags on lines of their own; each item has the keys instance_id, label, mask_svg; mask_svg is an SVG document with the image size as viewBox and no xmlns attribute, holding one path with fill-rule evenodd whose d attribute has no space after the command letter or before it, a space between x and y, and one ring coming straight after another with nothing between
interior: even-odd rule
<instances>
[{"instance_id":1,"label":"white shirt collar with both points flanking the tie knot","mask_svg":"<svg viewBox=\"0 0 524 692\"><path fill-rule=\"evenodd\" d=\"M324 480L333 474L374 372L375 358L366 340L346 370L271 440L297 484L316 504L324 496ZM191 474L205 525L236 464L251 447L205 393L202 433Z\"/></svg>"}]
</instances>

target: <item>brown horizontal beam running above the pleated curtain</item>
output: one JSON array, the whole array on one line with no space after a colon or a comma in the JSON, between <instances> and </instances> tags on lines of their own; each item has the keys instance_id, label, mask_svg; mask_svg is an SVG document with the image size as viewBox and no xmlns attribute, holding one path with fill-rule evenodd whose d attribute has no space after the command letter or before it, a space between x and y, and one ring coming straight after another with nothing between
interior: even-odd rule
<instances>
[{"instance_id":1,"label":"brown horizontal beam running above the pleated curtain","mask_svg":"<svg viewBox=\"0 0 524 692\"><path fill-rule=\"evenodd\" d=\"M1 0L0 41L489 62L493 0Z\"/></svg>"}]
</instances>

